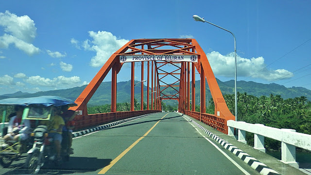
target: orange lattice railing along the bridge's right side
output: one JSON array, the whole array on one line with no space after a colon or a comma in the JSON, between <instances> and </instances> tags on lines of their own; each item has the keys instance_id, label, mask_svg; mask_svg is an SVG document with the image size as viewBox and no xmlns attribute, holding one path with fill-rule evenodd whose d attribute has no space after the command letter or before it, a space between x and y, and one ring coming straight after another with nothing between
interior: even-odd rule
<instances>
[{"instance_id":1,"label":"orange lattice railing along the bridge's right side","mask_svg":"<svg viewBox=\"0 0 311 175\"><path fill-rule=\"evenodd\" d=\"M225 118L215 116L214 114L207 114L196 111L185 111L185 114L213 127L220 132L227 133L227 124Z\"/></svg>"}]
</instances>

